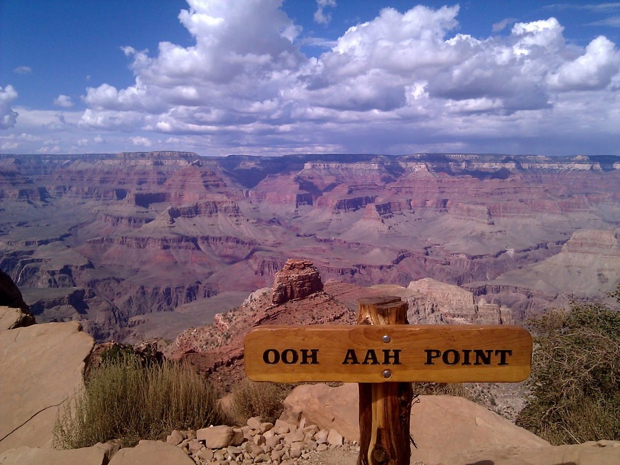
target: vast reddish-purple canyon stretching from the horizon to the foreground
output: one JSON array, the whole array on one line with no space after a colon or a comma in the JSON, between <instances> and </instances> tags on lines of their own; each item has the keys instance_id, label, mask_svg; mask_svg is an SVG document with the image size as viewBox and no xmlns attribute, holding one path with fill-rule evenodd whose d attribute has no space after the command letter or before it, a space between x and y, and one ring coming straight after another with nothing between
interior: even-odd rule
<instances>
[{"instance_id":1,"label":"vast reddish-purple canyon stretching from the horizon to the foreground","mask_svg":"<svg viewBox=\"0 0 620 465\"><path fill-rule=\"evenodd\" d=\"M317 322L383 285L417 322L470 318L433 294L521 323L605 301L619 228L618 156L0 155L0 270L37 322L79 320L99 342L173 341L251 293L286 307L286 282L260 289L289 258L320 275L304 282L331 306Z\"/></svg>"}]
</instances>

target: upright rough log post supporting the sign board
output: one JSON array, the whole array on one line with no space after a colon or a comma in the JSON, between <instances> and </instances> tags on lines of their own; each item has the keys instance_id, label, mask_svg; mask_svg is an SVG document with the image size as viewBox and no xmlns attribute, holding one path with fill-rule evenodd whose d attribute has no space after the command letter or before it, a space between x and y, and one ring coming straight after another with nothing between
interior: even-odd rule
<instances>
[{"instance_id":1,"label":"upright rough log post supporting the sign board","mask_svg":"<svg viewBox=\"0 0 620 465\"><path fill-rule=\"evenodd\" d=\"M407 304L395 296L358 300L358 324L409 324ZM382 338L389 349L389 332ZM409 417L413 391L409 382L359 383L360 457L358 465L409 465Z\"/></svg>"}]
</instances>

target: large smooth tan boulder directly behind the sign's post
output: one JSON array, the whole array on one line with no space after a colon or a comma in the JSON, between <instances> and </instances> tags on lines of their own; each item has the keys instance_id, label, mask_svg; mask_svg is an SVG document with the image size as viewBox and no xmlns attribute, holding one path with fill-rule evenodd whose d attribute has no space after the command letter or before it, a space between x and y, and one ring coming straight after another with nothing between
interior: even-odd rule
<instances>
[{"instance_id":1,"label":"large smooth tan boulder directly behind the sign's post","mask_svg":"<svg viewBox=\"0 0 620 465\"><path fill-rule=\"evenodd\" d=\"M359 440L357 384L298 386L285 400L283 415L291 411L349 441ZM411 409L411 436L417 444L412 460L428 464L457 464L465 453L476 451L510 447L517 453L549 445L497 413L449 395L420 396Z\"/></svg>"}]
</instances>

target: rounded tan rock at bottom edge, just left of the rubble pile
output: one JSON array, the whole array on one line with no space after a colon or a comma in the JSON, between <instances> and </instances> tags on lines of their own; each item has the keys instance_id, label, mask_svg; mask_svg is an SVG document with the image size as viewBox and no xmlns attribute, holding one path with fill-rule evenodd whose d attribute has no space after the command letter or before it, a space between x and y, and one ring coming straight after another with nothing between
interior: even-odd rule
<instances>
[{"instance_id":1,"label":"rounded tan rock at bottom edge, just left of the rubble pile","mask_svg":"<svg viewBox=\"0 0 620 465\"><path fill-rule=\"evenodd\" d=\"M141 464L196 465L180 448L162 441L141 441L136 447L123 448L114 454L108 465Z\"/></svg>"}]
</instances>

